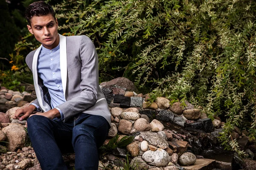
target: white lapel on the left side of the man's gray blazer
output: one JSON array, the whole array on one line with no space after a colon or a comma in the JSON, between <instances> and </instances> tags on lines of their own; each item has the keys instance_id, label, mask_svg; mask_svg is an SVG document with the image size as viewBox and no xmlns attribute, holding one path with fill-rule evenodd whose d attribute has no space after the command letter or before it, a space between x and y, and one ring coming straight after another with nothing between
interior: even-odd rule
<instances>
[{"instance_id":1,"label":"white lapel on the left side of the man's gray blazer","mask_svg":"<svg viewBox=\"0 0 256 170\"><path fill-rule=\"evenodd\" d=\"M42 45L35 51L33 62L32 62L32 71L33 71L33 79L34 79L34 85L35 85L35 93L38 99L38 103L41 106L43 111L49 111L51 108L50 106L44 102L44 94L42 91L42 88L38 85L38 72L37 72L37 61L38 61L38 55L41 51Z\"/></svg>"}]
</instances>

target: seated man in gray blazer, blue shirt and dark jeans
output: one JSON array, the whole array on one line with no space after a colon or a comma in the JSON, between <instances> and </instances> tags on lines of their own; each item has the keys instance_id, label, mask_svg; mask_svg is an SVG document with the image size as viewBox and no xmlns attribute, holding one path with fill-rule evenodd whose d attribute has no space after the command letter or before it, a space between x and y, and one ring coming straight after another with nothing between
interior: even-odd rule
<instances>
[{"instance_id":1,"label":"seated man in gray blazer, blue shirt and dark jeans","mask_svg":"<svg viewBox=\"0 0 256 170\"><path fill-rule=\"evenodd\" d=\"M37 99L13 118L29 117L29 137L43 170L66 170L61 153L72 145L75 169L97 170L97 149L108 135L111 114L99 88L93 42L58 34L55 12L44 1L30 4L25 16L29 32L42 44L26 57Z\"/></svg>"}]
</instances>

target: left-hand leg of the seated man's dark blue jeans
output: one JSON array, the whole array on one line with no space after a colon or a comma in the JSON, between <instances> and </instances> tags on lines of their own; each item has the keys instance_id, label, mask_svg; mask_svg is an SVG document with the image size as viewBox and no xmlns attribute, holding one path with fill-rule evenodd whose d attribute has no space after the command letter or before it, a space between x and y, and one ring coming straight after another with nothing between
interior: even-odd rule
<instances>
[{"instance_id":1,"label":"left-hand leg of the seated man's dark blue jeans","mask_svg":"<svg viewBox=\"0 0 256 170\"><path fill-rule=\"evenodd\" d=\"M67 170L55 139L71 143L73 123L71 125L38 115L27 120L29 137L43 170Z\"/></svg>"}]
</instances>

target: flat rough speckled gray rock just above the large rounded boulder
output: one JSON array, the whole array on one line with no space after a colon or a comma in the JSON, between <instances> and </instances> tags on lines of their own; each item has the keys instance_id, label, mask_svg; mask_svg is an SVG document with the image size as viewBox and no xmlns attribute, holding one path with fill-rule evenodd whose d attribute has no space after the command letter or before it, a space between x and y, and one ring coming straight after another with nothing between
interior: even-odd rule
<instances>
[{"instance_id":1,"label":"flat rough speckled gray rock just above the large rounded boulder","mask_svg":"<svg viewBox=\"0 0 256 170\"><path fill-rule=\"evenodd\" d=\"M140 136L143 137L144 140L148 141L149 144L153 144L162 149L166 149L168 147L168 142L165 139L163 139L162 136L159 136L157 133L145 132L141 133Z\"/></svg>"}]
</instances>

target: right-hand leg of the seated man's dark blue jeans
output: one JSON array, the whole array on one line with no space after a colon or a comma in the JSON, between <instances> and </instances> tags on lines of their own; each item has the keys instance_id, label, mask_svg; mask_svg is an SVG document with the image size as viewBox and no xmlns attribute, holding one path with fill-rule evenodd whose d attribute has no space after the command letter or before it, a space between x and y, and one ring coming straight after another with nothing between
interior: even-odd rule
<instances>
[{"instance_id":1,"label":"right-hand leg of the seated man's dark blue jeans","mask_svg":"<svg viewBox=\"0 0 256 170\"><path fill-rule=\"evenodd\" d=\"M76 170L98 170L98 148L108 136L109 124L102 116L81 113L75 121L72 144Z\"/></svg>"}]
</instances>

